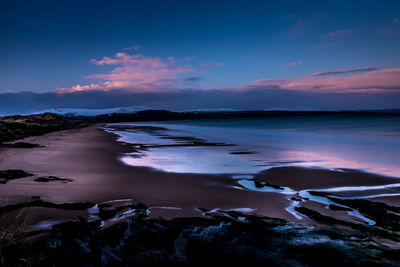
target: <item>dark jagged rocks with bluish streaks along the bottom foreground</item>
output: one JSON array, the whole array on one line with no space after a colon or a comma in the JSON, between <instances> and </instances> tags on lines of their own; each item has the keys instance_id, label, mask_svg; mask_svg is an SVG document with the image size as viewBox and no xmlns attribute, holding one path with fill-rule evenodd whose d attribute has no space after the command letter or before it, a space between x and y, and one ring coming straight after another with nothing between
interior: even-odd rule
<instances>
[{"instance_id":1,"label":"dark jagged rocks with bluish streaks along the bottom foreground","mask_svg":"<svg viewBox=\"0 0 400 267\"><path fill-rule=\"evenodd\" d=\"M57 207L40 199L25 206ZM49 206L50 205L50 206ZM149 217L142 204L58 204L91 219L0 242L2 266L395 266L400 251L368 231L302 226L235 211ZM13 211L19 207L8 208ZM7 213L5 210L1 211ZM393 244L398 242L393 236ZM397 241L396 241L397 240ZM388 245L389 244L389 245Z\"/></svg>"}]
</instances>

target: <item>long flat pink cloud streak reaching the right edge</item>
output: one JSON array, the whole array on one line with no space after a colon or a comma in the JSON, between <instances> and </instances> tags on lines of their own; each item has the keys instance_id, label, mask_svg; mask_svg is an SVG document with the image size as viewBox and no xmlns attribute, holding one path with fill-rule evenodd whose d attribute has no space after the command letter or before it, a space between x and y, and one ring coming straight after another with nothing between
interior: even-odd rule
<instances>
[{"instance_id":1,"label":"long flat pink cloud streak reaching the right edge","mask_svg":"<svg viewBox=\"0 0 400 267\"><path fill-rule=\"evenodd\" d=\"M399 92L400 68L370 71L351 76L306 76L297 79L261 79L224 90L284 89L318 93Z\"/></svg>"}]
</instances>

